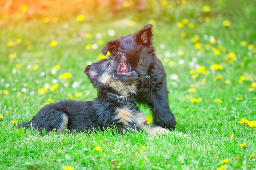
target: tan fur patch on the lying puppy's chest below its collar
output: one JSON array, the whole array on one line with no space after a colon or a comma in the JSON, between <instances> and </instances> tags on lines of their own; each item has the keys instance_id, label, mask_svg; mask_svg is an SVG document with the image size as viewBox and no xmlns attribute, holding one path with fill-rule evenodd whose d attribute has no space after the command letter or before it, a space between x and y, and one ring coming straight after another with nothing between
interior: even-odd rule
<instances>
[{"instance_id":1,"label":"tan fur patch on the lying puppy's chest below its collar","mask_svg":"<svg viewBox=\"0 0 256 170\"><path fill-rule=\"evenodd\" d=\"M125 126L129 126L129 122L134 122L135 117L132 114L132 111L127 108L117 108L115 119L119 119L118 123L122 123Z\"/></svg>"}]
</instances>

